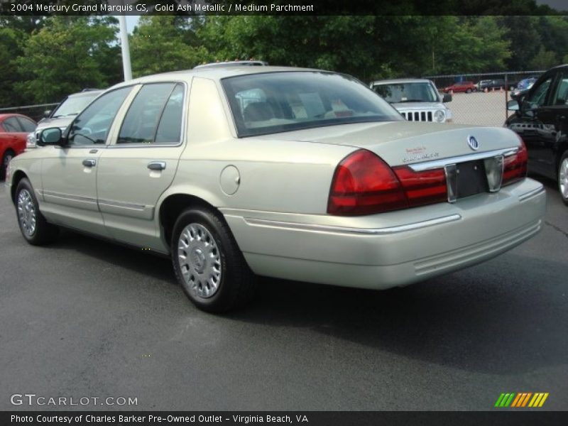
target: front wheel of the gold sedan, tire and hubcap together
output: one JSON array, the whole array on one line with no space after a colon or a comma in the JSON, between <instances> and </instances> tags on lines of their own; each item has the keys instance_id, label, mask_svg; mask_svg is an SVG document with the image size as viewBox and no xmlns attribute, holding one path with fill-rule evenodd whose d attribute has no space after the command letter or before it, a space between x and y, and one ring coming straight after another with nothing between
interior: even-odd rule
<instances>
[{"instance_id":1,"label":"front wheel of the gold sedan, tire and hubcap together","mask_svg":"<svg viewBox=\"0 0 568 426\"><path fill-rule=\"evenodd\" d=\"M48 223L41 214L33 187L27 178L20 180L16 187L16 215L23 238L33 246L48 244L59 234L58 226Z\"/></svg>"}]
</instances>

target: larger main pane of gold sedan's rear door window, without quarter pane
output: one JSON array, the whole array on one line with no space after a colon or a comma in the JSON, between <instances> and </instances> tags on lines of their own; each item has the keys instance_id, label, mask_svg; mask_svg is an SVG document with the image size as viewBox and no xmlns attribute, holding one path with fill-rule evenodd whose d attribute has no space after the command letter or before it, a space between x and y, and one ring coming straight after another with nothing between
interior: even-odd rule
<instances>
[{"instance_id":1,"label":"larger main pane of gold sedan's rear door window, without quarter pane","mask_svg":"<svg viewBox=\"0 0 568 426\"><path fill-rule=\"evenodd\" d=\"M142 87L126 113L117 142L153 143L166 102L173 95L174 88L175 83L146 84ZM170 111L171 109L172 104ZM169 121L170 116L172 113L168 112Z\"/></svg>"}]
</instances>

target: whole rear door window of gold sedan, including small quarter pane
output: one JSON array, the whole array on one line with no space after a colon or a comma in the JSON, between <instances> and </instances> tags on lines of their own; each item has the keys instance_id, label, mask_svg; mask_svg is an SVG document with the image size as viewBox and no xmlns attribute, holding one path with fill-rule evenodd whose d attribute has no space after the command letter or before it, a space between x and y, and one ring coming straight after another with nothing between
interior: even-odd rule
<instances>
[{"instance_id":1,"label":"whole rear door window of gold sedan, including small quarter pane","mask_svg":"<svg viewBox=\"0 0 568 426\"><path fill-rule=\"evenodd\" d=\"M182 84L146 84L126 113L117 143L180 142L182 109Z\"/></svg>"}]
</instances>

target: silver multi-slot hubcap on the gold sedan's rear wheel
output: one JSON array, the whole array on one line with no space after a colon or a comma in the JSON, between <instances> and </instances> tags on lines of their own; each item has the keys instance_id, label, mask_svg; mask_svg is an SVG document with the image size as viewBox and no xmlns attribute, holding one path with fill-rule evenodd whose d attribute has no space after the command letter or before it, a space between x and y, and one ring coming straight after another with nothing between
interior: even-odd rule
<instances>
[{"instance_id":1,"label":"silver multi-slot hubcap on the gold sedan's rear wheel","mask_svg":"<svg viewBox=\"0 0 568 426\"><path fill-rule=\"evenodd\" d=\"M190 293L205 299L217 293L221 255L207 228L200 224L185 226L178 241L178 262Z\"/></svg>"}]
</instances>

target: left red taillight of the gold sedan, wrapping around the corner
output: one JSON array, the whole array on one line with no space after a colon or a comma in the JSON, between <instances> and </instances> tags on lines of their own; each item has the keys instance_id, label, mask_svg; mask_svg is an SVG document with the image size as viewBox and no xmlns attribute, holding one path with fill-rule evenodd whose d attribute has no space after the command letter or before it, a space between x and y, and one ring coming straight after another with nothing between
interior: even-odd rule
<instances>
[{"instance_id":1,"label":"left red taillight of the gold sedan, wrapping around the corner","mask_svg":"<svg viewBox=\"0 0 568 426\"><path fill-rule=\"evenodd\" d=\"M374 214L447 200L443 169L391 169L378 155L361 149L335 169L327 212L340 216Z\"/></svg>"}]
</instances>

